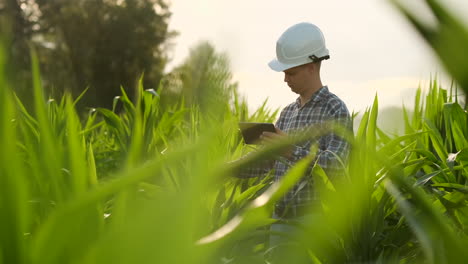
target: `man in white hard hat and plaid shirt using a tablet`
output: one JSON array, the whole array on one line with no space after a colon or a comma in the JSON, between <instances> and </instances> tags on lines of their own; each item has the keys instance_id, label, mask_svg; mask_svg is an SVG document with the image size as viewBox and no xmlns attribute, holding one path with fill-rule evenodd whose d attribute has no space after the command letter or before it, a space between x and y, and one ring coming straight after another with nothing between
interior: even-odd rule
<instances>
[{"instance_id":1,"label":"man in white hard hat and plaid shirt using a tablet","mask_svg":"<svg viewBox=\"0 0 468 264\"><path fill-rule=\"evenodd\" d=\"M336 122L352 131L345 103L332 94L320 78L322 61L329 58L323 34L313 24L293 25L280 36L276 43L276 59L269 66L274 71L284 72L284 81L299 97L281 112L275 125L276 133L263 133L265 144L328 122ZM274 169L275 180L279 180L295 162L310 154L313 143L318 146L313 164L320 165L329 177L339 175L343 170L342 161L346 162L348 158L350 146L344 138L329 133L317 139L317 142L307 141L292 146L279 159L245 169L239 176L254 177ZM300 220L317 198L312 177L306 175L276 204L274 217ZM274 224L272 230L291 231L290 227L282 224ZM272 237L270 242L277 244L277 240L278 237Z\"/></svg>"}]
</instances>

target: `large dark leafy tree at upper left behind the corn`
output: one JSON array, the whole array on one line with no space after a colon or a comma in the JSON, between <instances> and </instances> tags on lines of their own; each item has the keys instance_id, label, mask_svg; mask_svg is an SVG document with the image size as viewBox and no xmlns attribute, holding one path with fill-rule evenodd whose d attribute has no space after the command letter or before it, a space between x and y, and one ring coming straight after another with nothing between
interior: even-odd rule
<instances>
[{"instance_id":1,"label":"large dark leafy tree at upper left behind the corn","mask_svg":"<svg viewBox=\"0 0 468 264\"><path fill-rule=\"evenodd\" d=\"M49 92L77 96L89 87L82 105L110 107L121 85L134 94L142 73L146 87L159 84L175 35L166 0L8 1L32 14L28 40Z\"/></svg>"}]
</instances>

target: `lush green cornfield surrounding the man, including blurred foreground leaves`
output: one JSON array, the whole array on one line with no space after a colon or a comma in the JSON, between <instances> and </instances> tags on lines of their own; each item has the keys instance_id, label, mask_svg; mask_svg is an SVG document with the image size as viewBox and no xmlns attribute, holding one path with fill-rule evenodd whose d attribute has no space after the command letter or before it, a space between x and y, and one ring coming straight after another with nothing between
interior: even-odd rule
<instances>
[{"instance_id":1,"label":"lush green cornfield surrounding the man, including blurred foreground leaves","mask_svg":"<svg viewBox=\"0 0 468 264\"><path fill-rule=\"evenodd\" d=\"M355 133L344 135L352 142L346 175L329 179L314 168L322 213L291 238L310 263L468 262L468 31L426 2L436 28L399 8L457 85L443 89L433 80L421 87L427 93L415 91L401 135L377 126L376 97ZM113 109L83 114L79 98L44 95L34 52L34 105L23 105L4 50L0 264L267 263L273 205L314 157L275 184L271 176L232 176L291 143L238 160L252 149L237 122L273 122L277 111L264 105L250 112L235 89L217 104L163 104L164 85L140 85L134 101L122 89L109 98Z\"/></svg>"}]
</instances>

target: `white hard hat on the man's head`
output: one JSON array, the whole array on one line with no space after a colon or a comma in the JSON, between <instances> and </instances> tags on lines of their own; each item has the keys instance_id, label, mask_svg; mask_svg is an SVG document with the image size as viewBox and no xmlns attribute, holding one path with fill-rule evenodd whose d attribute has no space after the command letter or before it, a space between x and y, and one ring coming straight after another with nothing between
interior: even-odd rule
<instances>
[{"instance_id":1,"label":"white hard hat on the man's head","mask_svg":"<svg viewBox=\"0 0 468 264\"><path fill-rule=\"evenodd\" d=\"M329 59L322 31L310 23L299 23L288 28L276 42L276 59L268 63L274 71L310 62Z\"/></svg>"}]
</instances>

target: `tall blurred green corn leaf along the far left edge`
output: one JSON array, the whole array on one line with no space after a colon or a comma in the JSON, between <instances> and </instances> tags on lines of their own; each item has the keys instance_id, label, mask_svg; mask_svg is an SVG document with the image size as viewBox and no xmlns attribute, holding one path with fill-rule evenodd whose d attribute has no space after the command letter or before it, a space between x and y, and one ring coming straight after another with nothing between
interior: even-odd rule
<instances>
[{"instance_id":1,"label":"tall blurred green corn leaf along the far left edge","mask_svg":"<svg viewBox=\"0 0 468 264\"><path fill-rule=\"evenodd\" d=\"M7 57L0 36L0 262L30 263L25 234L30 231L27 174L16 144L14 97L5 75Z\"/></svg>"}]
</instances>

